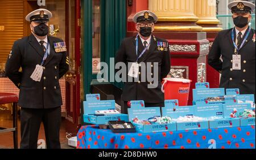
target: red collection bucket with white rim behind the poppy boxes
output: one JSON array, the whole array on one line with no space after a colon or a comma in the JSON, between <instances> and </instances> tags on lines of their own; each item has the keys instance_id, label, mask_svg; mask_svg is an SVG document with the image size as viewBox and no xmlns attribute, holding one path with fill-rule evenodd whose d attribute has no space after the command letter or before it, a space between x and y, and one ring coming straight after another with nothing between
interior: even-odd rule
<instances>
[{"instance_id":1,"label":"red collection bucket with white rim behind the poppy boxes","mask_svg":"<svg viewBox=\"0 0 256 160\"><path fill-rule=\"evenodd\" d=\"M179 100L179 106L187 106L191 82L188 79L164 79L162 85L164 100Z\"/></svg>"}]
</instances>

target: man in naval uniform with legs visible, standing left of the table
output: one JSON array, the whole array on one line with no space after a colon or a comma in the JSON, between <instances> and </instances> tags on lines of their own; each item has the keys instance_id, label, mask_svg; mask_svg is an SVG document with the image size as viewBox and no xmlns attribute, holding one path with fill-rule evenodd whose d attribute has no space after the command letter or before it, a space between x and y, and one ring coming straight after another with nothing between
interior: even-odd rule
<instances>
[{"instance_id":1,"label":"man in naval uniform with legs visible, standing left of the table","mask_svg":"<svg viewBox=\"0 0 256 160\"><path fill-rule=\"evenodd\" d=\"M26 16L32 34L14 42L6 76L20 89L20 148L37 148L43 121L47 148L60 148L61 92L59 79L69 69L65 42L47 36L52 13L39 9Z\"/></svg>"}]
</instances>

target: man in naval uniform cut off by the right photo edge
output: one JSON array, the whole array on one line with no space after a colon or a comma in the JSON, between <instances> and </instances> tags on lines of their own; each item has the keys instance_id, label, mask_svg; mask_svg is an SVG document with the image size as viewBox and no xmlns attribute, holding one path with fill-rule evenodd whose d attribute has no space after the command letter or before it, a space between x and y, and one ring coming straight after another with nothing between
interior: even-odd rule
<instances>
[{"instance_id":1,"label":"man in naval uniform cut off by the right photo edge","mask_svg":"<svg viewBox=\"0 0 256 160\"><path fill-rule=\"evenodd\" d=\"M218 33L208 62L221 73L220 88L239 88L255 97L255 30L249 26L255 5L234 1L228 7L235 27Z\"/></svg>"}]
</instances>

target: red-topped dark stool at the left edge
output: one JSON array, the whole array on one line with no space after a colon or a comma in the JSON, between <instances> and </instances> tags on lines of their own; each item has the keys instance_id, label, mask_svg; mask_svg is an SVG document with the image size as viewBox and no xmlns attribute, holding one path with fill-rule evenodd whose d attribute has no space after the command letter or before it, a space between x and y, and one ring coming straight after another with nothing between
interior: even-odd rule
<instances>
[{"instance_id":1,"label":"red-topped dark stool at the left edge","mask_svg":"<svg viewBox=\"0 0 256 160\"><path fill-rule=\"evenodd\" d=\"M12 93L0 93L0 105L13 103L13 128L1 128L0 133L13 132L13 144L14 148L18 148L18 100L19 97Z\"/></svg>"}]
</instances>

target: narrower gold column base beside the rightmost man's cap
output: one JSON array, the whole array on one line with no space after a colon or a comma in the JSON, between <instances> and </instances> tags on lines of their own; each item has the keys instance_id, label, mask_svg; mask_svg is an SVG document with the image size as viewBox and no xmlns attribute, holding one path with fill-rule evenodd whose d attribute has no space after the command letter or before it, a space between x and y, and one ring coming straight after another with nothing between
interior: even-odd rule
<instances>
[{"instance_id":1,"label":"narrower gold column base beside the rightmost man's cap","mask_svg":"<svg viewBox=\"0 0 256 160\"><path fill-rule=\"evenodd\" d=\"M219 32L220 21L216 18L216 0L194 0L194 12L199 18L196 24L203 27L204 32Z\"/></svg>"}]
</instances>

